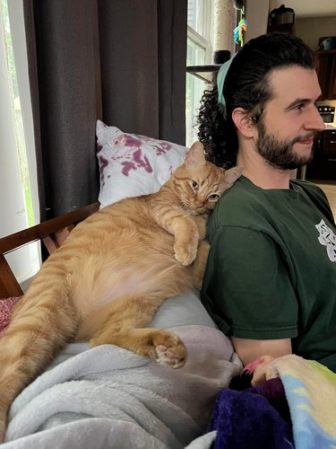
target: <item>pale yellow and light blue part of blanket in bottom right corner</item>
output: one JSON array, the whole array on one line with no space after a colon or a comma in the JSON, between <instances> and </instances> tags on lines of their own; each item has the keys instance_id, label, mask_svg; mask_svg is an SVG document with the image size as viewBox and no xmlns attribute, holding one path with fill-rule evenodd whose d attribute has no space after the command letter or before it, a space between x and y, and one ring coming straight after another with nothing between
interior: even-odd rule
<instances>
[{"instance_id":1,"label":"pale yellow and light blue part of blanket in bottom right corner","mask_svg":"<svg viewBox=\"0 0 336 449\"><path fill-rule=\"evenodd\" d=\"M297 449L336 447L336 374L295 355L260 365L258 378L280 378L289 404ZM259 381L260 382L260 381Z\"/></svg>"}]
</instances>

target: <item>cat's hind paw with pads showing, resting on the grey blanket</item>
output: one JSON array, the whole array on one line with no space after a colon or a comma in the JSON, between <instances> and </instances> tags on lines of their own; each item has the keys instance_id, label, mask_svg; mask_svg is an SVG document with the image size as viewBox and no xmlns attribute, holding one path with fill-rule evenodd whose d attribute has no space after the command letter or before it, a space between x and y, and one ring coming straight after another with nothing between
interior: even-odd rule
<instances>
[{"instance_id":1,"label":"cat's hind paw with pads showing, resting on the grey blanket","mask_svg":"<svg viewBox=\"0 0 336 449\"><path fill-rule=\"evenodd\" d=\"M160 334L154 339L157 357L155 361L160 365L180 368L185 365L186 348L183 341L175 334Z\"/></svg>"}]
</instances>

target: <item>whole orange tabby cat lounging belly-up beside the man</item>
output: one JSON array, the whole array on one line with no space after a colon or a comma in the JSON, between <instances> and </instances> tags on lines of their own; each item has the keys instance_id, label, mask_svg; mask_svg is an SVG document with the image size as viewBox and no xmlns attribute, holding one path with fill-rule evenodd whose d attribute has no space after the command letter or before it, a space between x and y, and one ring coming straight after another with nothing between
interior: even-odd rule
<instances>
[{"instance_id":1,"label":"whole orange tabby cat lounging belly-up beside the man","mask_svg":"<svg viewBox=\"0 0 336 449\"><path fill-rule=\"evenodd\" d=\"M0 437L13 399L69 341L114 344L184 365L177 335L143 326L165 298L200 286L206 218L241 172L206 162L195 144L159 192L121 200L74 228L33 279L0 339Z\"/></svg>"}]
</instances>

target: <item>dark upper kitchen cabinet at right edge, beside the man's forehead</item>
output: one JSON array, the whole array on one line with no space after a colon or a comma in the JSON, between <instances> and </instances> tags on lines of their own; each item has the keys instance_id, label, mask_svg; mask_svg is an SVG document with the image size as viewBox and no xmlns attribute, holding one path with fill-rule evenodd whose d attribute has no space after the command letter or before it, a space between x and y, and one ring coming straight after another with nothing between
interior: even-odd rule
<instances>
[{"instance_id":1,"label":"dark upper kitchen cabinet at right edge, beside the man's forehead","mask_svg":"<svg viewBox=\"0 0 336 449\"><path fill-rule=\"evenodd\" d=\"M336 50L317 51L317 76L321 100L336 100Z\"/></svg>"}]
</instances>

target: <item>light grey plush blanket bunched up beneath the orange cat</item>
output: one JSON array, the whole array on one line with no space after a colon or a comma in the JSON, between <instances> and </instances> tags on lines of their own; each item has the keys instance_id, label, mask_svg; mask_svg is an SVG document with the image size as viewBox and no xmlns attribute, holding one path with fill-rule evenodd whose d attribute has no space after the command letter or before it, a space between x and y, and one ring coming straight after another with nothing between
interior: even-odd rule
<instances>
[{"instance_id":1,"label":"light grey plush blanket bunched up beneath the orange cat","mask_svg":"<svg viewBox=\"0 0 336 449\"><path fill-rule=\"evenodd\" d=\"M13 402L4 449L179 449L205 431L218 392L239 373L220 330L172 328L188 350L172 369L112 345L74 354ZM82 346L83 345L83 346ZM66 354L66 352L65 352ZM67 358L67 359L66 359Z\"/></svg>"}]
</instances>

